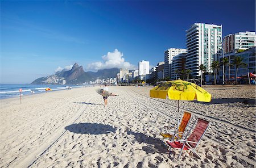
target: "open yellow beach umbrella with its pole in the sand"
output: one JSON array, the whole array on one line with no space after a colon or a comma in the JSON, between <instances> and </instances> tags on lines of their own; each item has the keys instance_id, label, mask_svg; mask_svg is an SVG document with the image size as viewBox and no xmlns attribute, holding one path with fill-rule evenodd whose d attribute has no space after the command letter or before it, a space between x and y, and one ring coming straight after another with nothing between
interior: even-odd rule
<instances>
[{"instance_id":1,"label":"open yellow beach umbrella with its pole in the sand","mask_svg":"<svg viewBox=\"0 0 256 168\"><path fill-rule=\"evenodd\" d=\"M210 102L212 95L195 83L176 80L161 83L150 90L151 98L178 100L177 129L179 127L179 100L197 100L199 102Z\"/></svg>"}]
</instances>

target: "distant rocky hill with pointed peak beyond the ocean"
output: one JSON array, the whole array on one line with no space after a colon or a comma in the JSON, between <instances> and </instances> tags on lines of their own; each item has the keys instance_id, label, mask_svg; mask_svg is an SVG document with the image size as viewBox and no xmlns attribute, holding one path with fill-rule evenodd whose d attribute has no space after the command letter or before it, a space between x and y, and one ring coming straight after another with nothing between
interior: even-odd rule
<instances>
[{"instance_id":1,"label":"distant rocky hill with pointed peak beyond the ocean","mask_svg":"<svg viewBox=\"0 0 256 168\"><path fill-rule=\"evenodd\" d=\"M115 78L119 72L118 68L102 69L98 72L84 72L82 66L75 63L71 70L62 70L47 77L35 79L31 84L62 84L63 80L69 85L79 85L85 82L95 81L97 78Z\"/></svg>"}]
</instances>

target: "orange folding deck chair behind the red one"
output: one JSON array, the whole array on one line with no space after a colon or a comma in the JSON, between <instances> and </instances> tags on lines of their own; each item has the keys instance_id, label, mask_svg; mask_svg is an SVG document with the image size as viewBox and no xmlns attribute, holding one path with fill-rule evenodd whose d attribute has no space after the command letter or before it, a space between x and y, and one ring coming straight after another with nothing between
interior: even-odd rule
<instances>
[{"instance_id":1,"label":"orange folding deck chair behind the red one","mask_svg":"<svg viewBox=\"0 0 256 168\"><path fill-rule=\"evenodd\" d=\"M177 132L177 135L181 138L184 134L184 131L186 130L187 128L187 125L189 124L189 121L191 119L191 113L189 112L184 112L183 113L183 118L180 122L180 125L179 125L179 132ZM172 127L174 128L174 127ZM174 139L174 135L176 133L176 130L174 129L173 131L170 131L170 133L163 133L161 132L160 135L162 135L163 139L162 141L164 141L165 138L170 138L170 139Z\"/></svg>"}]
</instances>

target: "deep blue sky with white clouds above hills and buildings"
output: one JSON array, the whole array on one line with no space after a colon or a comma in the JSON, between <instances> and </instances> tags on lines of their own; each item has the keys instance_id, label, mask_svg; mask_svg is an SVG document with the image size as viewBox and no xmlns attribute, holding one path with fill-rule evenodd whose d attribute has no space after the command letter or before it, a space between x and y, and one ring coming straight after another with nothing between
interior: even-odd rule
<instances>
[{"instance_id":1,"label":"deep blue sky with white clouds above hills and buildings","mask_svg":"<svg viewBox=\"0 0 256 168\"><path fill-rule=\"evenodd\" d=\"M31 83L77 62L85 71L155 66L185 48L193 23L255 31L255 1L1 1L1 83ZM114 67L113 67L114 68Z\"/></svg>"}]
</instances>

